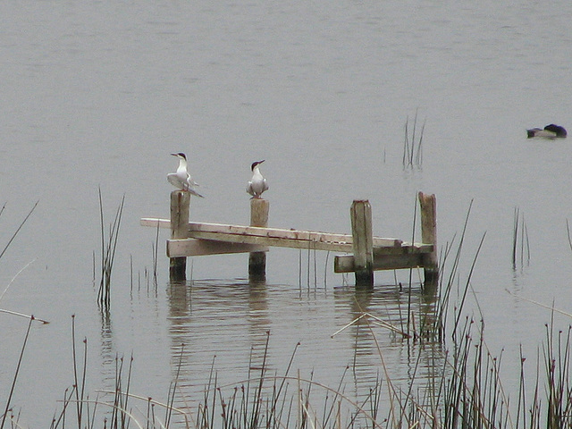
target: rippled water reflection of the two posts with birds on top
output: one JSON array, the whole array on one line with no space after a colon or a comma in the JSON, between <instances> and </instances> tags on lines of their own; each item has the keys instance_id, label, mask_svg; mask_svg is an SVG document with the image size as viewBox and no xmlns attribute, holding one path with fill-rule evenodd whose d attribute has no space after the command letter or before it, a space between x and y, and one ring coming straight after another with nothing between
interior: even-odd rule
<instances>
[{"instance_id":1,"label":"rippled water reflection of the two posts with birds on top","mask_svg":"<svg viewBox=\"0 0 572 429\"><path fill-rule=\"evenodd\" d=\"M179 390L176 408L204 400L197 392L212 389L210 377L225 372L229 361L244 368L236 379L248 377L248 370L253 377L265 372L271 327L265 282L170 282L167 299L171 371ZM225 314L219 318L220 311Z\"/></svg>"}]
</instances>

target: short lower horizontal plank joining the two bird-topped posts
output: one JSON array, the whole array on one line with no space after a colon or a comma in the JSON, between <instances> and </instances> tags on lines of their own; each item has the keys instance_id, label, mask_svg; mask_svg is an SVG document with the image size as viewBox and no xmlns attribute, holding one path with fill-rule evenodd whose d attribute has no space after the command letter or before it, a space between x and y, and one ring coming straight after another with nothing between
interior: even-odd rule
<instances>
[{"instance_id":1,"label":"short lower horizontal plank joining the two bird-topped posts","mask_svg":"<svg viewBox=\"0 0 572 429\"><path fill-rule=\"evenodd\" d=\"M213 240L167 240L167 257L202 257L231 253L267 252L265 246Z\"/></svg>"}]
</instances>

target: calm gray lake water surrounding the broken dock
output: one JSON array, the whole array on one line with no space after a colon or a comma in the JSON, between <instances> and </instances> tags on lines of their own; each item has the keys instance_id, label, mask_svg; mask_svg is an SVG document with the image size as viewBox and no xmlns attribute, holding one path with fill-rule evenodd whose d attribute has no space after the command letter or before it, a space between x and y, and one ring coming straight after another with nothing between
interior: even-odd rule
<instances>
[{"instance_id":1,"label":"calm gray lake water surrounding the broken dock","mask_svg":"<svg viewBox=\"0 0 572 429\"><path fill-rule=\"evenodd\" d=\"M0 291L10 284L0 307L51 322L34 324L13 398L25 427L46 427L73 383L71 315L77 342L88 339L92 395L113 386L115 356L132 353L131 391L165 400L184 343L192 403L211 366L220 384L245 379L266 332L279 374L298 342L295 370L336 387L351 365L357 396L381 371L371 335L332 334L360 299L397 321L407 298L393 285L406 271L376 273L375 292L356 297L332 256L326 266L311 255L308 273L306 254L300 270L298 251L272 249L265 287L244 280L244 255L195 258L193 282L174 287L162 231L158 282L147 281L155 231L139 218L168 216L174 151L188 154L206 196L192 202L198 221L248 223L249 165L263 158L276 227L347 232L352 199L368 198L374 233L408 240L423 190L437 196L444 245L472 200L458 282L486 232L466 311L479 317L478 302L505 361L521 343L534 357L550 319L518 297L572 312L570 140L526 139L550 122L572 129L572 3L12 1L0 16L0 243L39 200L0 260ZM403 127L416 112L423 164L404 170ZM106 223L125 195L108 318L93 282L98 187ZM513 270L516 206L531 260ZM0 313L1 404L26 325ZM407 385L411 345L382 328L376 339Z\"/></svg>"}]
</instances>

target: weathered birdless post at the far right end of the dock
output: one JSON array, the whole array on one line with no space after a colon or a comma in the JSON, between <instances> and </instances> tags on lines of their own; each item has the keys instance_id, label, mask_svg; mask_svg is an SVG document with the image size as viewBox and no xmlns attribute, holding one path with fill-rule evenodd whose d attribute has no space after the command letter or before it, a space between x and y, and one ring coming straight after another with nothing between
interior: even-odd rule
<instances>
[{"instance_id":1,"label":"weathered birdless post at the far right end of the dock","mask_svg":"<svg viewBox=\"0 0 572 429\"><path fill-rule=\"evenodd\" d=\"M433 252L424 257L425 283L439 280L439 262L437 258L437 200L435 195L417 194L421 208L421 240L433 244Z\"/></svg>"}]
</instances>

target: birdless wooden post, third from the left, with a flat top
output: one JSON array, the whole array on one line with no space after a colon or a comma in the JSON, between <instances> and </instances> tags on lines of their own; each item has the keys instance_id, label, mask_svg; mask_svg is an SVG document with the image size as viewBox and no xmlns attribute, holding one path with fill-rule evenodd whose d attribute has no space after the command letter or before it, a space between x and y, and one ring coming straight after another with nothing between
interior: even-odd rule
<instances>
[{"instance_id":1,"label":"birdless wooden post, third from the left, with a flat top","mask_svg":"<svg viewBox=\"0 0 572 429\"><path fill-rule=\"evenodd\" d=\"M354 200L350 214L356 287L366 286L372 288L374 286L372 206L370 206L367 200Z\"/></svg>"}]
</instances>

